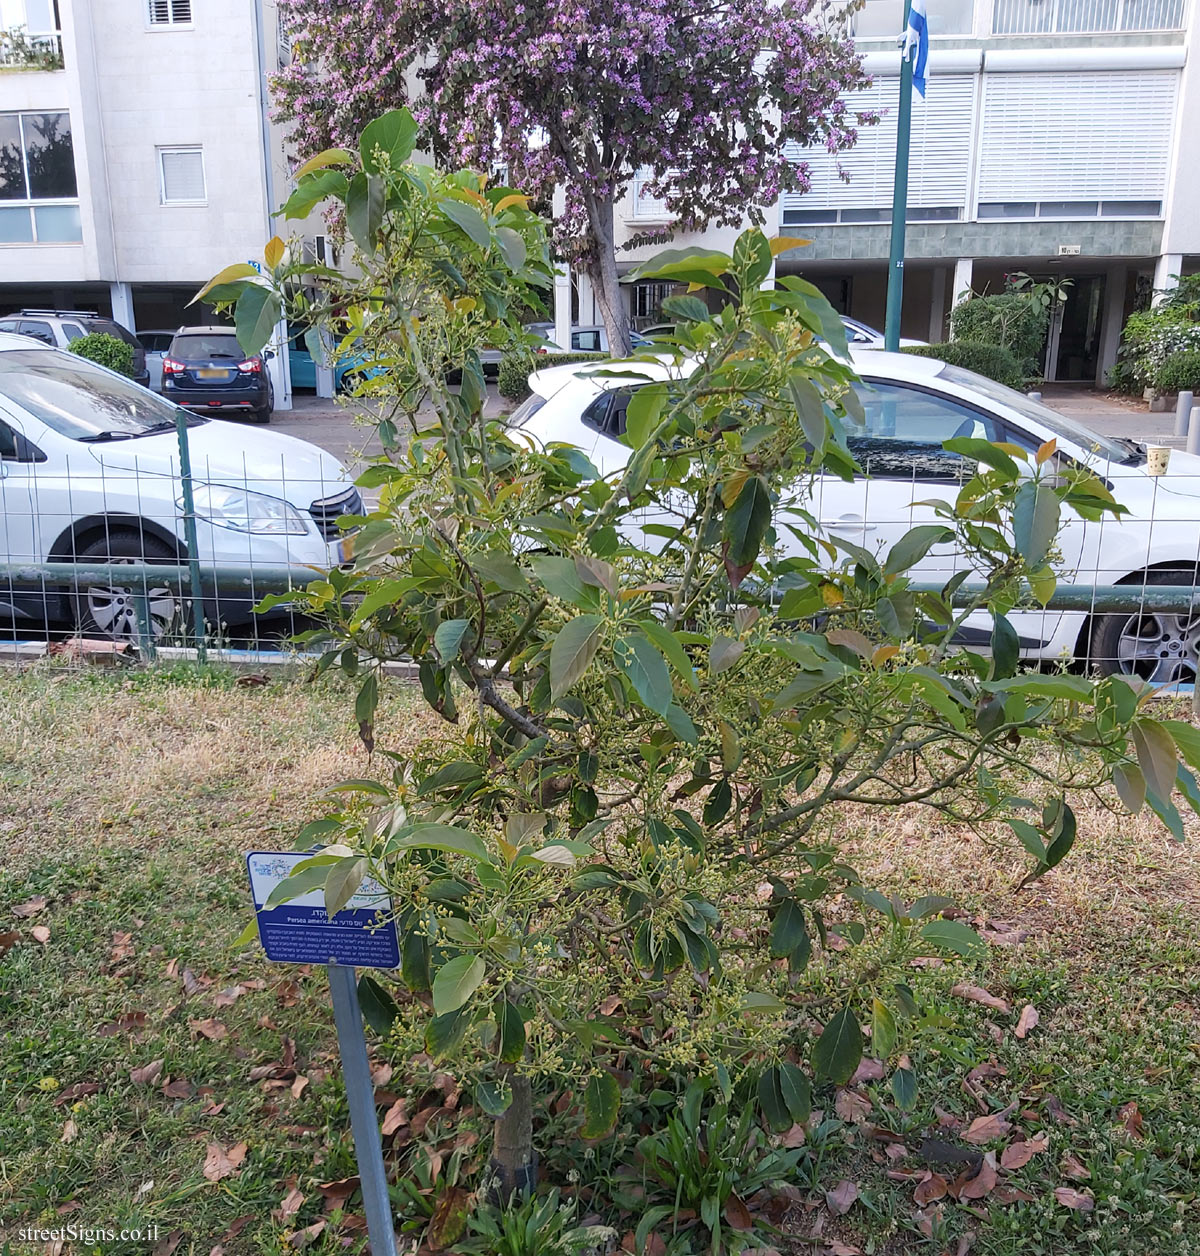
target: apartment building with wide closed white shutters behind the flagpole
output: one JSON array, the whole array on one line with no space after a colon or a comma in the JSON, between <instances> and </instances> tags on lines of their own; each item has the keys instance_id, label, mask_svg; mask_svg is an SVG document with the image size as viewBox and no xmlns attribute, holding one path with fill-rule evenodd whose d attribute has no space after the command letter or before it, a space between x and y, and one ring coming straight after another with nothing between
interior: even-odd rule
<instances>
[{"instance_id":1,"label":"apartment building with wide closed white shutters behind the flagpole","mask_svg":"<svg viewBox=\"0 0 1200 1256\"><path fill-rule=\"evenodd\" d=\"M968 289L1071 279L1047 378L1103 383L1135 301L1200 269L1200 41L1194 0L927 0L925 100L912 111L902 334L941 340ZM854 38L882 113L842 157L795 149L808 193L770 230L809 240L780 274L883 324L902 0L866 0ZM848 182L841 177L844 171ZM635 185L625 239L665 225ZM691 242L679 239L676 244ZM627 256L640 259L650 250ZM631 294L653 318L651 285Z\"/></svg>"}]
</instances>

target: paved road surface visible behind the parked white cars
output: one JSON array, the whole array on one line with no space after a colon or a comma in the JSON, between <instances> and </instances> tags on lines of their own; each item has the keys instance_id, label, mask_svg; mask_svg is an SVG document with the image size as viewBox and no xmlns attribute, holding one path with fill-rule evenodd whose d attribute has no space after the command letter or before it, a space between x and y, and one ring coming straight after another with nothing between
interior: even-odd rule
<instances>
[{"instance_id":1,"label":"paved road surface visible behind the parked white cars","mask_svg":"<svg viewBox=\"0 0 1200 1256\"><path fill-rule=\"evenodd\" d=\"M501 402L491 393L491 406L499 411ZM1131 436L1147 445L1170 445L1181 448L1184 441L1175 437L1174 412L1152 414L1145 402L1098 393L1072 386L1048 386L1042 399L1103 436ZM312 393L295 397L292 411L276 411L271 427L276 432L312 441L341 458L348 467L362 463L363 458L381 452L372 413L377 406L368 402L342 404L325 401Z\"/></svg>"}]
</instances>

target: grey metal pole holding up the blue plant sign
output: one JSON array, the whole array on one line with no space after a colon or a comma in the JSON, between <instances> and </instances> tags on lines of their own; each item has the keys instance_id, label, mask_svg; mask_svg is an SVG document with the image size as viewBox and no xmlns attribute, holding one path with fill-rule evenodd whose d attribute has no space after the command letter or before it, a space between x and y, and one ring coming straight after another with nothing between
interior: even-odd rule
<instances>
[{"instance_id":1,"label":"grey metal pole holding up the blue plant sign","mask_svg":"<svg viewBox=\"0 0 1200 1256\"><path fill-rule=\"evenodd\" d=\"M325 971L329 973L329 992L333 996L333 1020L338 1027L338 1049L342 1053L342 1075L351 1108L351 1130L354 1134L354 1156L362 1183L363 1211L367 1213L371 1256L396 1256L396 1231L392 1228L392 1206L387 1197L387 1171L383 1168L379 1123L374 1115L374 1085L367 1061L367 1039L362 1031L354 970L349 965L328 963Z\"/></svg>"}]
</instances>

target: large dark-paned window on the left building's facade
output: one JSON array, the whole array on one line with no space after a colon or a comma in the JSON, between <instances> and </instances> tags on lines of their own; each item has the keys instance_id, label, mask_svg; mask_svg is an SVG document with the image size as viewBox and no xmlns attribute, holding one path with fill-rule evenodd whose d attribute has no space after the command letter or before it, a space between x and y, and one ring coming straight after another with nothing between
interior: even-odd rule
<instances>
[{"instance_id":1,"label":"large dark-paned window on the left building's facade","mask_svg":"<svg viewBox=\"0 0 1200 1256\"><path fill-rule=\"evenodd\" d=\"M68 113L0 113L0 244L83 239Z\"/></svg>"}]
</instances>

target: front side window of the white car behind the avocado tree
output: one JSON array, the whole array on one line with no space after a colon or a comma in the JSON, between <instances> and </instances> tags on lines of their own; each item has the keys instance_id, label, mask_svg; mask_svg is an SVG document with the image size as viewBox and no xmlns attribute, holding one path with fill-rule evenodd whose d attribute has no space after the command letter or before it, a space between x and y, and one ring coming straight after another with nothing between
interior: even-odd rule
<instances>
[{"instance_id":1,"label":"front side window of the white car behind the avocado tree","mask_svg":"<svg viewBox=\"0 0 1200 1256\"><path fill-rule=\"evenodd\" d=\"M957 436L999 440L990 416L924 388L880 379L856 388L865 422L847 422L846 443L863 471L885 480L964 480L975 463L942 448Z\"/></svg>"}]
</instances>

